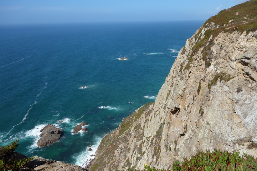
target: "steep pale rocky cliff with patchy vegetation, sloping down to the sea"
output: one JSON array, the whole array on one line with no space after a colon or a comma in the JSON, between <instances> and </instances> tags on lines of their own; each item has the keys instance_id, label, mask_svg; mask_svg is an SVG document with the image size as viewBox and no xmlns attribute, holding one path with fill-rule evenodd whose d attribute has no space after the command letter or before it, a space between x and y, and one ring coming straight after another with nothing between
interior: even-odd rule
<instances>
[{"instance_id":1,"label":"steep pale rocky cliff with patchy vegetation, sloping down to the sea","mask_svg":"<svg viewBox=\"0 0 257 171\"><path fill-rule=\"evenodd\" d=\"M159 91L101 141L90 170L171 168L198 149L257 157L257 1L223 10L187 40ZM217 25L220 25L217 28Z\"/></svg>"}]
</instances>

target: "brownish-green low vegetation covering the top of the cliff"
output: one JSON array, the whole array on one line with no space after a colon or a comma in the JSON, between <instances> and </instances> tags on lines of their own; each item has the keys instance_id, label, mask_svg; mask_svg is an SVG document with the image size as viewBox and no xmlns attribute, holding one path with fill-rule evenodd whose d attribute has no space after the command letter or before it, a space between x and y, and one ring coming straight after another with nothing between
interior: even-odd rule
<instances>
[{"instance_id":1,"label":"brownish-green low vegetation covering the top of the cliff","mask_svg":"<svg viewBox=\"0 0 257 171\"><path fill-rule=\"evenodd\" d=\"M214 23L214 25L210 27L210 23ZM217 25L220 25L220 28L216 28ZM203 36L201 32L205 27L211 29L207 29ZM246 31L246 34L248 34L249 32L254 32L256 30L257 0L247 1L232 8L222 10L217 15L209 18L199 29L198 33L195 34L194 38L198 39L198 42L193 47L191 57L195 55L200 48L204 47L202 51L203 61L205 62L205 66L209 67L213 59L210 48L213 45L214 38L219 33L240 32L242 34ZM200 39L199 36L203 36L203 38Z\"/></svg>"}]
</instances>

